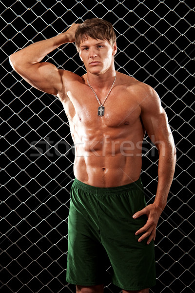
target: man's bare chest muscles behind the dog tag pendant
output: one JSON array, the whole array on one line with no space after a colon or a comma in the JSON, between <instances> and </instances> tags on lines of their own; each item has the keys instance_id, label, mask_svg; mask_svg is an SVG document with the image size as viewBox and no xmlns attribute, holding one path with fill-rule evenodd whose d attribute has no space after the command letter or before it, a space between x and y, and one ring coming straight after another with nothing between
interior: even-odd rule
<instances>
[{"instance_id":1,"label":"man's bare chest muscles behind the dog tag pendant","mask_svg":"<svg viewBox=\"0 0 195 293\"><path fill-rule=\"evenodd\" d=\"M92 125L131 126L139 119L140 106L135 96L129 94L128 91L121 92L113 89L106 101L105 98L101 96L97 99L89 87L85 87L84 91L80 89L70 92L69 99L72 104L70 110L74 114L70 113L71 119L89 127Z\"/></svg>"}]
</instances>

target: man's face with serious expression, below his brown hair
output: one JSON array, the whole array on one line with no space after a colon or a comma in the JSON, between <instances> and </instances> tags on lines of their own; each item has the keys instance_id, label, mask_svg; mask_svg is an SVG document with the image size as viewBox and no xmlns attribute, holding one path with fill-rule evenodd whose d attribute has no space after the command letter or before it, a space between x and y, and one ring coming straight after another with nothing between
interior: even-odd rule
<instances>
[{"instance_id":1,"label":"man's face with serious expression, below his brown hair","mask_svg":"<svg viewBox=\"0 0 195 293\"><path fill-rule=\"evenodd\" d=\"M92 74L106 72L114 62L114 55L117 52L116 43L112 47L107 40L96 40L88 38L80 42L79 56L87 71Z\"/></svg>"}]
</instances>

